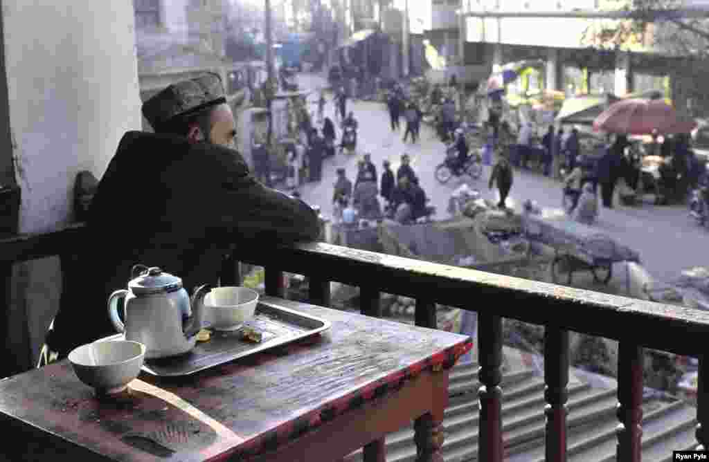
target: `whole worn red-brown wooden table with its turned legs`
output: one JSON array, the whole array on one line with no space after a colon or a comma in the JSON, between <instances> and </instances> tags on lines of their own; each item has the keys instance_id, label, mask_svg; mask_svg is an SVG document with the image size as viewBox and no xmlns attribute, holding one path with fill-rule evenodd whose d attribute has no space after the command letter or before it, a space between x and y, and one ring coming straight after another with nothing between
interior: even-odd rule
<instances>
[{"instance_id":1,"label":"whole worn red-brown wooden table with its turned legs","mask_svg":"<svg viewBox=\"0 0 709 462\"><path fill-rule=\"evenodd\" d=\"M0 453L18 461L335 461L415 420L420 461L442 461L448 374L471 339L266 298L330 320L320 336L194 376L143 373L101 400L67 361L0 381ZM1 459L1 457L0 457Z\"/></svg>"}]
</instances>

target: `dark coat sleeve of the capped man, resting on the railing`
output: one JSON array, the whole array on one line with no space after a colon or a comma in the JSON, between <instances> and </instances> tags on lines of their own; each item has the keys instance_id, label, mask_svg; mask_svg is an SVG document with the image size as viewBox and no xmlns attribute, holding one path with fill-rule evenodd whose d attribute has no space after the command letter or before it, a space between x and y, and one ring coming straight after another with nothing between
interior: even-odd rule
<instances>
[{"instance_id":1,"label":"dark coat sleeve of the capped man, resting on the railing","mask_svg":"<svg viewBox=\"0 0 709 462\"><path fill-rule=\"evenodd\" d=\"M166 218L174 225L277 244L320 235L318 216L309 205L256 181L233 150L200 146L172 164L162 181L172 191Z\"/></svg>"}]
</instances>

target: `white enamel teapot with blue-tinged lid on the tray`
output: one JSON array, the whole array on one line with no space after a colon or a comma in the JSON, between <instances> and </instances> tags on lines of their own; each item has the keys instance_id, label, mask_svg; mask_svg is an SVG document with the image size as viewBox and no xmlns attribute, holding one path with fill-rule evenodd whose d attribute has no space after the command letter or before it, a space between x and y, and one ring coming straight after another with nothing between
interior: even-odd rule
<instances>
[{"instance_id":1,"label":"white enamel teapot with blue-tinged lid on the tray","mask_svg":"<svg viewBox=\"0 0 709 462\"><path fill-rule=\"evenodd\" d=\"M136 270L140 270L137 277ZM116 330L124 332L126 340L145 344L147 359L193 349L202 327L204 296L211 286L196 288L190 300L182 279L160 268L135 265L131 278L128 290L115 291L108 298L108 315ZM119 298L125 298L125 324L118 317Z\"/></svg>"}]
</instances>

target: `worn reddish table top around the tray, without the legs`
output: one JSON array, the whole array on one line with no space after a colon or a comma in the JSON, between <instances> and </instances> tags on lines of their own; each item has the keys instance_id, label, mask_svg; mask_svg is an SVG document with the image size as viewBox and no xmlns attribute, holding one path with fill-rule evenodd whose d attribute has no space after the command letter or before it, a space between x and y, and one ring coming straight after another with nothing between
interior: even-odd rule
<instances>
[{"instance_id":1,"label":"worn reddish table top around the tray, without the legs","mask_svg":"<svg viewBox=\"0 0 709 462\"><path fill-rule=\"evenodd\" d=\"M109 460L203 461L296 438L426 368L450 368L471 339L277 298L330 320L306 342L194 376L143 374L121 400L99 401L67 361L0 381L0 422L29 424ZM86 455L90 455L86 453Z\"/></svg>"}]
</instances>

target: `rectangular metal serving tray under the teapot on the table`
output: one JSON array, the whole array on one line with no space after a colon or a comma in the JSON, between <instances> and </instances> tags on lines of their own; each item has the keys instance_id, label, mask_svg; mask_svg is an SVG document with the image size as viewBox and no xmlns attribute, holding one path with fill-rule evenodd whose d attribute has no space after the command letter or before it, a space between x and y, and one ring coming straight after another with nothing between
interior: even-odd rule
<instances>
[{"instance_id":1,"label":"rectangular metal serving tray under the teapot on the table","mask_svg":"<svg viewBox=\"0 0 709 462\"><path fill-rule=\"evenodd\" d=\"M160 377L189 376L330 329L330 322L327 320L264 302L259 302L254 317L247 325L262 332L260 343L242 340L242 329L233 332L213 330L208 342L197 342L189 353L169 358L146 359L143 371ZM98 342L122 338L123 334L116 334L99 339Z\"/></svg>"}]
</instances>

